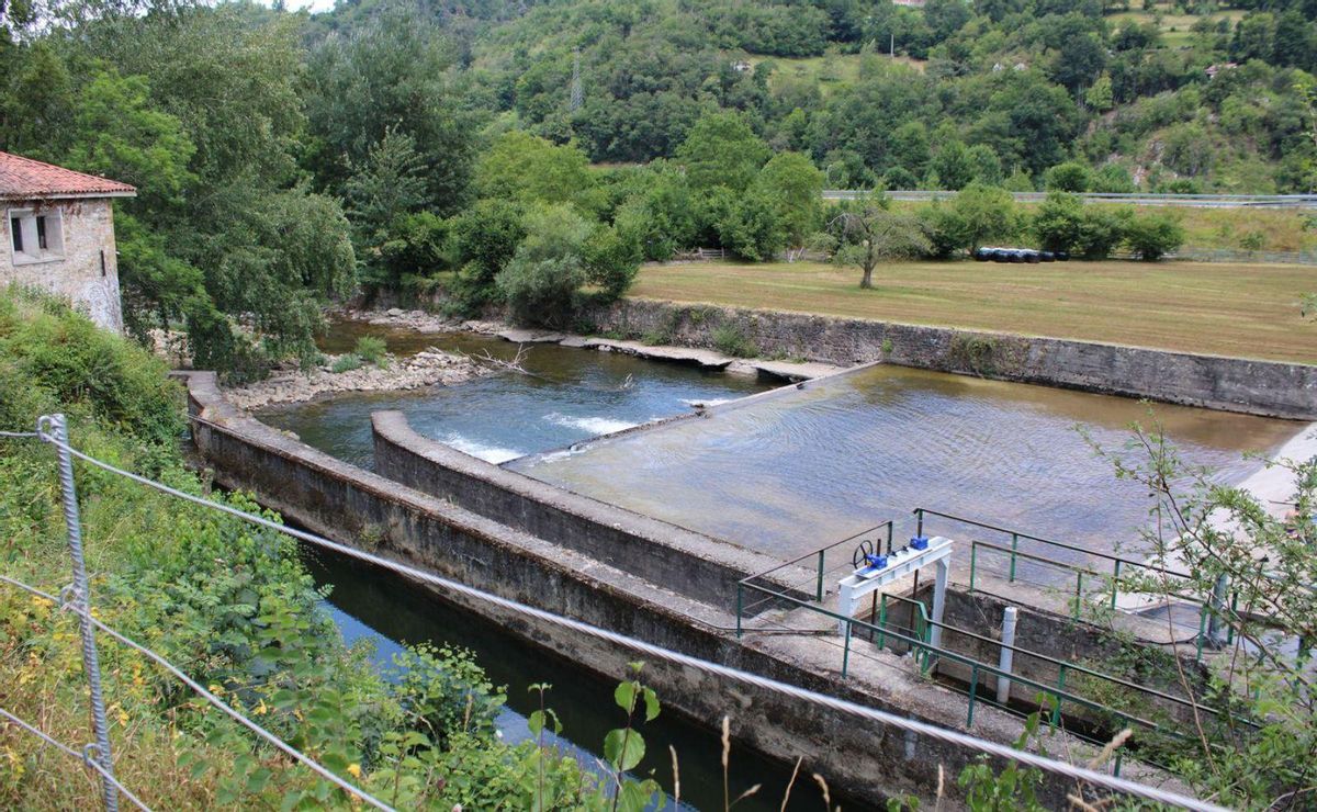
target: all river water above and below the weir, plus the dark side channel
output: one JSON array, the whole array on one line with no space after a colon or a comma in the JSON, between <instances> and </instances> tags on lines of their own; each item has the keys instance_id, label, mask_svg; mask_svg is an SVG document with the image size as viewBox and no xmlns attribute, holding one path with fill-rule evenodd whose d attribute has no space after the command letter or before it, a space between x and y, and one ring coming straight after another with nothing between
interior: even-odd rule
<instances>
[{"instance_id":1,"label":"all river water above and below the weir, plus the dark side channel","mask_svg":"<svg viewBox=\"0 0 1317 812\"><path fill-rule=\"evenodd\" d=\"M361 324L335 325L321 345L346 351L379 334L398 354L428 346L511 358L508 342L473 334L420 334ZM672 417L691 403L719 403L766 384L735 375L647 362L616 353L529 347L527 375L498 374L417 392L348 393L273 407L259 417L344 461L371 465L370 412L400 409L420 432L490 462L782 558L792 558L922 505L1038 536L1114 550L1146 524L1146 494L1113 475L1085 440L1118 450L1129 425L1158 422L1191 465L1237 480L1301 425L1047 387L988 382L901 367L874 367L789 388L706 419L668 422L615 438L607 432ZM566 450L570 446L570 450ZM565 724L561 744L585 759L619 725L612 683L514 640L398 578L308 553L328 608L345 637L370 638L377 657L398 645L462 645L495 683L508 686L500 729L528 734L527 692L554 684L549 704ZM703 720L715 724L716 720ZM681 754L684 799L722 804L719 742L710 729L665 712L647 729L637 770L670 790L666 745ZM738 808L777 808L790 769L734 751L732 796L753 783L761 795ZM792 808L818 803L797 783ZM807 801L807 803L806 803Z\"/></svg>"}]
</instances>

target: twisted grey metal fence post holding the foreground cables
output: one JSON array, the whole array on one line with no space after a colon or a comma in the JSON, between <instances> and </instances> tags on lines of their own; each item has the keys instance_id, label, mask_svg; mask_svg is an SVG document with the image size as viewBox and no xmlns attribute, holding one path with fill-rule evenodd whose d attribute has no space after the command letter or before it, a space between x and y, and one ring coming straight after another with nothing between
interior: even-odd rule
<instances>
[{"instance_id":1,"label":"twisted grey metal fence post holding the foreground cables","mask_svg":"<svg viewBox=\"0 0 1317 812\"><path fill-rule=\"evenodd\" d=\"M63 496L65 525L68 529L68 553L74 563L72 608L78 613L82 632L83 670L91 688L91 721L96 733L96 762L105 771L100 778L105 809L119 809L119 791L115 788L115 762L109 751L109 724L105 721L105 696L100 684L100 658L96 655L96 629L91 624L91 588L87 583L87 563L83 559L82 517L78 515L78 492L74 490L74 458L68 453L68 422L63 415L47 415L37 421L37 430L55 442L59 458L59 491Z\"/></svg>"}]
</instances>

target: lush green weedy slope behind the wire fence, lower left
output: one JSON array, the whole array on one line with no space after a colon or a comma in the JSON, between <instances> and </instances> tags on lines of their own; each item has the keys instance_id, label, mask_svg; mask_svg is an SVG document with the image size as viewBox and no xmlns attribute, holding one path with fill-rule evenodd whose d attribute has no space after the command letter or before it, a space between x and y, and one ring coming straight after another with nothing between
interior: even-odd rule
<instances>
[{"instance_id":1,"label":"lush green weedy slope behind the wire fence, lower left","mask_svg":"<svg viewBox=\"0 0 1317 812\"><path fill-rule=\"evenodd\" d=\"M0 291L0 428L30 430L38 415L63 411L74 445L87 453L261 512L184 467L182 391L165 372L58 303ZM34 440L0 444L5 575L59 594L70 563L54 450ZM494 728L502 691L468 653L407 646L379 669L367 647L345 646L290 537L96 469L78 466L76 476L96 616L385 801L602 809L620 780L616 808L639 811L658 792L651 779L620 776L623 763L632 766L641 720L658 712L652 692L636 687L619 708L610 737L633 728L631 745L623 753L602 742L598 773L537 741L504 744ZM3 705L80 748L95 737L75 620L0 584ZM149 805L350 805L140 654L104 634L99 642L115 771ZM636 675L624 676L636 684ZM553 726L543 715L531 724ZM99 796L91 771L11 725L0 725L0 763L5 808L82 808Z\"/></svg>"}]
</instances>

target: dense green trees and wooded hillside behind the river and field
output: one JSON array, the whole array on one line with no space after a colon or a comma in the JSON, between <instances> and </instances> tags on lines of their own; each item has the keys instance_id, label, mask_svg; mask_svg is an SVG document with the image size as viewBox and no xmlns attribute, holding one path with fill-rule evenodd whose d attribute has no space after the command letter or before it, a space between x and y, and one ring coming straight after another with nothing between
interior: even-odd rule
<instances>
[{"instance_id":1,"label":"dense green trees and wooded hillside behind the river and field","mask_svg":"<svg viewBox=\"0 0 1317 812\"><path fill-rule=\"evenodd\" d=\"M11 0L0 149L133 183L133 332L309 361L363 287L566 318L691 246L1155 258L1176 228L1001 190L1310 191L1317 3ZM917 216L819 191L969 190ZM1000 211L997 211L1000 209ZM918 232L918 233L915 233ZM871 246L872 247L872 246ZM853 251L852 251L853 253ZM869 251L871 259L873 251ZM255 338L253 341L253 338Z\"/></svg>"}]
</instances>

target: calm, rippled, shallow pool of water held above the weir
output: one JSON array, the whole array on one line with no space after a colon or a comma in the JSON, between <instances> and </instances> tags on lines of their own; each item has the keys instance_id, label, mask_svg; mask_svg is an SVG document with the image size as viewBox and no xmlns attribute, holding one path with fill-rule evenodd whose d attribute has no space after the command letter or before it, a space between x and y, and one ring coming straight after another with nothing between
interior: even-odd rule
<instances>
[{"instance_id":1,"label":"calm, rippled, shallow pool of water held above the weir","mask_svg":"<svg viewBox=\"0 0 1317 812\"><path fill-rule=\"evenodd\" d=\"M795 557L923 505L1114 551L1150 507L1080 426L1119 450L1160 424L1193 465L1237 479L1301 426L1206 409L873 367L707 420L511 465L565 488Z\"/></svg>"}]
</instances>

